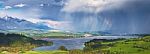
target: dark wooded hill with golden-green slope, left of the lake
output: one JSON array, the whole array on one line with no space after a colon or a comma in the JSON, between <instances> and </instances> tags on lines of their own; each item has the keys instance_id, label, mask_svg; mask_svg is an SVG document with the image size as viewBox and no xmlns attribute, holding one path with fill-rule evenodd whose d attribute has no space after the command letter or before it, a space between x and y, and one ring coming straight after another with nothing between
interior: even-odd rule
<instances>
[{"instance_id":1,"label":"dark wooded hill with golden-green slope, left of the lake","mask_svg":"<svg viewBox=\"0 0 150 54\"><path fill-rule=\"evenodd\" d=\"M43 40L34 40L20 34L4 34L0 33L0 52L19 52L29 51L35 47L52 45L52 42Z\"/></svg>"}]
</instances>

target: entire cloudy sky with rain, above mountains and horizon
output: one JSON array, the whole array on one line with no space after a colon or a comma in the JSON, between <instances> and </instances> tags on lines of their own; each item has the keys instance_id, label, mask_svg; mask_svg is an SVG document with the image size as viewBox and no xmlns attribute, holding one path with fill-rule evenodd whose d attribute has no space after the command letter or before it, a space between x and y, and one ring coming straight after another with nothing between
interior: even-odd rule
<instances>
[{"instance_id":1,"label":"entire cloudy sky with rain, above mountains and horizon","mask_svg":"<svg viewBox=\"0 0 150 54\"><path fill-rule=\"evenodd\" d=\"M66 31L150 33L149 0L0 0L0 17Z\"/></svg>"}]
</instances>

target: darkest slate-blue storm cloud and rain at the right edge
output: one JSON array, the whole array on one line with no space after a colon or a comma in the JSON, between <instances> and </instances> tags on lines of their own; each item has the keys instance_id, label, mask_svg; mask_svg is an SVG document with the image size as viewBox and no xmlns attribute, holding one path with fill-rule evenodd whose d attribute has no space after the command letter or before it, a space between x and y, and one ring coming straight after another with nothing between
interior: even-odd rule
<instances>
[{"instance_id":1,"label":"darkest slate-blue storm cloud and rain at the right edge","mask_svg":"<svg viewBox=\"0 0 150 54\"><path fill-rule=\"evenodd\" d=\"M150 33L149 5L149 0L132 0L101 15L112 20L113 33Z\"/></svg>"}]
</instances>

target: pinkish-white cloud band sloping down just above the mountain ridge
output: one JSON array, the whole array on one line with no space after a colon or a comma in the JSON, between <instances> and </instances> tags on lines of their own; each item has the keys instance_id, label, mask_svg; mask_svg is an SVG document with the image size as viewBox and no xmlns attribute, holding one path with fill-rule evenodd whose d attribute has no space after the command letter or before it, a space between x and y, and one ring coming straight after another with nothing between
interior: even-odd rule
<instances>
[{"instance_id":1,"label":"pinkish-white cloud band sloping down just above the mountain ridge","mask_svg":"<svg viewBox=\"0 0 150 54\"><path fill-rule=\"evenodd\" d=\"M52 20L43 20L39 18L30 18L26 20L32 23L43 23L50 28L59 29L59 30L66 30L66 28L69 28L69 22L66 21L52 21Z\"/></svg>"}]
</instances>

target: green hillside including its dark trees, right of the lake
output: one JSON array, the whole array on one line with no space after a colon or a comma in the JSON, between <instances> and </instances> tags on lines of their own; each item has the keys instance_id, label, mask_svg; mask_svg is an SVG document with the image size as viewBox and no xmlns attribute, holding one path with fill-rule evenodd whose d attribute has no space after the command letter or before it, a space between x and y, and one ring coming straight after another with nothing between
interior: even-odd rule
<instances>
[{"instance_id":1,"label":"green hillside including its dark trees, right of the lake","mask_svg":"<svg viewBox=\"0 0 150 54\"><path fill-rule=\"evenodd\" d=\"M150 54L150 36L117 41L91 41L86 44L85 50L87 49L104 54Z\"/></svg>"}]
</instances>

